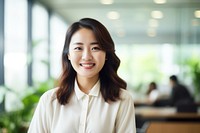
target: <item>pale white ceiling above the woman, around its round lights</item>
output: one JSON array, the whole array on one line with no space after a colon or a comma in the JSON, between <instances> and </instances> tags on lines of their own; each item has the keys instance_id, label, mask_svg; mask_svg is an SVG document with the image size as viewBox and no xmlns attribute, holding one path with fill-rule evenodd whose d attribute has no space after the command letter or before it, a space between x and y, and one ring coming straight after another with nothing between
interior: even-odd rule
<instances>
[{"instance_id":1,"label":"pale white ceiling above the woman, around its round lights","mask_svg":"<svg viewBox=\"0 0 200 133\"><path fill-rule=\"evenodd\" d=\"M108 28L117 44L179 43L181 34L189 34L192 29L194 11L200 10L200 0L167 0L166 4L159 5L153 0L114 0L112 5L102 5L100 0L36 1L61 15L69 24L83 17L98 19ZM153 10L162 11L164 17L157 20L156 36L149 37L147 30ZM120 18L108 19L109 11L117 11ZM200 19L196 20L200 26ZM120 37L119 33L123 36Z\"/></svg>"}]
</instances>

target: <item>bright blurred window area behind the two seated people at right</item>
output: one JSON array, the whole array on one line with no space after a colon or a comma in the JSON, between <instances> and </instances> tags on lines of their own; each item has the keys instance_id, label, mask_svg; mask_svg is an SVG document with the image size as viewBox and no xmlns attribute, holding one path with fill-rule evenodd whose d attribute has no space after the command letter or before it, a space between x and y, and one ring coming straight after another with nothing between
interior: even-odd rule
<instances>
[{"instance_id":1,"label":"bright blurred window area behind the two seated people at right","mask_svg":"<svg viewBox=\"0 0 200 133\"><path fill-rule=\"evenodd\" d=\"M199 62L199 51L199 44L117 45L116 53L121 59L119 75L127 81L136 99L141 96L135 92L146 94L151 81L157 82L161 93L169 94L169 76L173 74L194 93L192 66L188 62Z\"/></svg>"}]
</instances>

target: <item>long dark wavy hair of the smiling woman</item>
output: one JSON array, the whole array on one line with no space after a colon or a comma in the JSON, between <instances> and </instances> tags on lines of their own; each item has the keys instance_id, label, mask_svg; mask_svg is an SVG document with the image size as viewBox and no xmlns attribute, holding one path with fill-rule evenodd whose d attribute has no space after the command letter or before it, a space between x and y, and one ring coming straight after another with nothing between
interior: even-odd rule
<instances>
[{"instance_id":1,"label":"long dark wavy hair of the smiling woman","mask_svg":"<svg viewBox=\"0 0 200 133\"><path fill-rule=\"evenodd\" d=\"M62 74L59 79L57 99L60 104L67 104L74 91L76 71L69 59L69 45L73 34L81 28L93 31L99 46L106 52L106 61L99 73L100 91L104 100L116 101L120 99L120 88L126 89L126 82L117 75L120 59L115 54L114 42L104 25L92 18L83 18L73 23L67 30L65 44L62 52Z\"/></svg>"}]
</instances>

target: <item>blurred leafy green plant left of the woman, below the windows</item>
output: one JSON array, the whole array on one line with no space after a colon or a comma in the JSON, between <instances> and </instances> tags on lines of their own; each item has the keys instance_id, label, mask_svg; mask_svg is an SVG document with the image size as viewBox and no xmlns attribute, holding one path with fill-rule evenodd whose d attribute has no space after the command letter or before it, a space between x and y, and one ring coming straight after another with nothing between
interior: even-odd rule
<instances>
[{"instance_id":1,"label":"blurred leafy green plant left of the woman, below the windows","mask_svg":"<svg viewBox=\"0 0 200 133\"><path fill-rule=\"evenodd\" d=\"M7 133L26 133L40 96L54 87L54 81L54 79L49 79L32 87L33 91L20 99L23 108L10 112L3 109L0 112L0 133L1 129L6 129Z\"/></svg>"}]
</instances>

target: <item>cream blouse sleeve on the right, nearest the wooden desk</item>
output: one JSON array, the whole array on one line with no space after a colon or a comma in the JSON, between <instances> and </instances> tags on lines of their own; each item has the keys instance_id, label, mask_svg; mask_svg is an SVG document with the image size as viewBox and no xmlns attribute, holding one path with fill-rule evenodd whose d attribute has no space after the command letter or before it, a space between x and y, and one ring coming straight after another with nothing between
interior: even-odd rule
<instances>
[{"instance_id":1,"label":"cream blouse sleeve on the right, nearest the wooden desk","mask_svg":"<svg viewBox=\"0 0 200 133\"><path fill-rule=\"evenodd\" d=\"M133 98L128 92L125 93L117 114L116 133L136 133Z\"/></svg>"}]
</instances>

